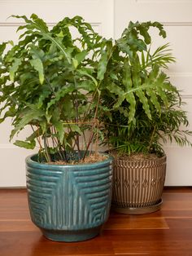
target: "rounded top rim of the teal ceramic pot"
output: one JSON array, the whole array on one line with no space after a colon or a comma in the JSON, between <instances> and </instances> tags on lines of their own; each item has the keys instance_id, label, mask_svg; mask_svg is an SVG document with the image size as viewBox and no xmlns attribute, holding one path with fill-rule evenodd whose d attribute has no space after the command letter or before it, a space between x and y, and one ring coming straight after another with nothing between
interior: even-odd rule
<instances>
[{"instance_id":1,"label":"rounded top rim of the teal ceramic pot","mask_svg":"<svg viewBox=\"0 0 192 256\"><path fill-rule=\"evenodd\" d=\"M47 164L47 163L41 163L36 161L37 158L37 153L36 154L32 154L29 155L28 157L25 158L25 162L28 164L28 166L35 168L38 167L38 169L43 169L43 170L63 170L63 167L65 167L65 169L76 169L79 168L81 166L83 166L84 170L89 170L94 166L107 166L109 161L114 161L114 157L112 157L110 154L104 153L104 152L99 152L99 154L103 155L103 156L107 156L107 159L103 160L103 161L96 161L94 163L80 163L80 164L75 164L75 165L54 165L54 164Z\"/></svg>"}]
</instances>

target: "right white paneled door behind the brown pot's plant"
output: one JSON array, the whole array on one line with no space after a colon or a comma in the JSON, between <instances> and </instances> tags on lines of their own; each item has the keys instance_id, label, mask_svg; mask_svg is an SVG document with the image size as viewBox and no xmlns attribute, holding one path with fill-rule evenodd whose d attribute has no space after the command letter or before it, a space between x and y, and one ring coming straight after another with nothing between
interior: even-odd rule
<instances>
[{"instance_id":1,"label":"right white paneled door behind the brown pot's plant","mask_svg":"<svg viewBox=\"0 0 192 256\"><path fill-rule=\"evenodd\" d=\"M169 68L172 84L182 90L192 129L192 0L116 0L115 37L119 37L129 20L159 21L167 31L167 41L177 58L177 64ZM159 41L154 35L154 43ZM179 148L172 143L164 146L168 156L166 185L192 185L192 149Z\"/></svg>"}]
</instances>

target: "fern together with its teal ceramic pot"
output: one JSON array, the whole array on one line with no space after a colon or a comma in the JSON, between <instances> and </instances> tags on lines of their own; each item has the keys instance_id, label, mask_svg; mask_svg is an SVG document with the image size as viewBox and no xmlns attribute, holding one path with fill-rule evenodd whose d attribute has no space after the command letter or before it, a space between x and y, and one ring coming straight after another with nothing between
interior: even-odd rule
<instances>
[{"instance_id":1,"label":"fern together with its teal ceramic pot","mask_svg":"<svg viewBox=\"0 0 192 256\"><path fill-rule=\"evenodd\" d=\"M101 230L111 205L112 157L98 152L106 42L80 16L49 29L23 19L19 41L0 45L1 122L12 118L26 159L31 218L54 241L84 241ZM72 35L78 34L76 38Z\"/></svg>"}]
</instances>

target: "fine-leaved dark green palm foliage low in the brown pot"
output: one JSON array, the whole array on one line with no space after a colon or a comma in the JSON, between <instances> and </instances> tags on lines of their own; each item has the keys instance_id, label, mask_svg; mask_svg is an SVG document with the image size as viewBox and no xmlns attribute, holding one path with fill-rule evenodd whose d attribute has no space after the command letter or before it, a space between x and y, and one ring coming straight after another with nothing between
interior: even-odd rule
<instances>
[{"instance_id":1,"label":"fine-leaved dark green palm foliage low in the brown pot","mask_svg":"<svg viewBox=\"0 0 192 256\"><path fill-rule=\"evenodd\" d=\"M179 99L171 99L168 107L161 103L161 114L151 107L151 119L146 117L142 104L137 104L134 122L128 123L128 118L118 111L112 113L112 123L107 120L107 141L110 148L118 152L131 155L155 153L159 157L164 153L163 143L172 140L178 145L192 145L189 140L190 130L182 130L181 126L188 126L185 111L181 109Z\"/></svg>"}]
</instances>

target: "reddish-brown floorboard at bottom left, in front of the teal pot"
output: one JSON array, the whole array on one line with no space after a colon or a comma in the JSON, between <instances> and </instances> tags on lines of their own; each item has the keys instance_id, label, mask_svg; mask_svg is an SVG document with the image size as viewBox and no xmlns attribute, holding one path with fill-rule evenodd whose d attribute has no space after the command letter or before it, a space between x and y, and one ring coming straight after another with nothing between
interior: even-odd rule
<instances>
[{"instance_id":1,"label":"reddish-brown floorboard at bottom left, in front of the teal pot","mask_svg":"<svg viewBox=\"0 0 192 256\"><path fill-rule=\"evenodd\" d=\"M0 233L1 256L114 255L111 241L103 235L80 243L49 241L40 232Z\"/></svg>"}]
</instances>

